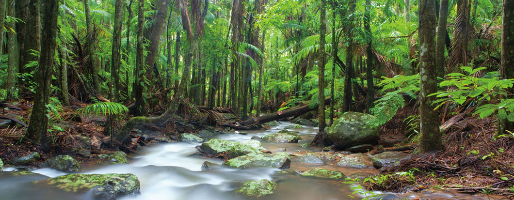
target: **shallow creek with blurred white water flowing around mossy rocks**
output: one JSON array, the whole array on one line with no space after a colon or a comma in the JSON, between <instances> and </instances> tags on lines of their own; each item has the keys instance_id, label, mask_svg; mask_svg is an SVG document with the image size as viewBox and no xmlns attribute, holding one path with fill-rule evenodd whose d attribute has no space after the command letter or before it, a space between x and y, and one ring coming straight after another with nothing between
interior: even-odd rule
<instances>
[{"instance_id":1,"label":"shallow creek with blurred white water flowing around mossy rocks","mask_svg":"<svg viewBox=\"0 0 514 200\"><path fill-rule=\"evenodd\" d=\"M219 139L231 141L245 141L252 136L264 136L269 133L278 132L284 127L291 125L282 122L270 130L247 131L247 135L241 134L220 134ZM304 154L308 151L320 151L315 148L301 148L299 145L310 143L317 128L303 127L291 129L299 131L303 138L298 144L276 144L262 142L262 146L271 152L285 151L289 154ZM135 174L141 183L141 194L138 196L125 197L123 199L251 199L233 192L242 183L254 179L269 179L278 183L273 194L259 199L355 199L363 198L359 194L353 194L351 185L343 185L341 181L327 181L315 178L306 178L298 175L274 175L278 169L252 168L237 170L222 166L210 170L201 171L201 165L205 162L221 164L223 161L218 158L202 157L196 152L199 143L168 143L157 144L146 147L137 154L133 154L130 164L96 165L84 164L79 173L132 173ZM298 172L315 167L324 167L331 170L343 172L345 175L355 173L377 174L377 170L353 169L339 167L337 163L308 164L299 162L297 157L291 157L291 169ZM14 170L6 168L4 171ZM35 188L29 182L42 179L45 175L56 177L65 173L52 169L38 169L33 176L0 176L0 199L90 199L86 195L76 196L63 192L59 189ZM383 199L396 198L422 198L422 199L487 199L482 196L471 196L468 194L448 193L431 191L416 194L393 194L382 193Z\"/></svg>"}]
</instances>

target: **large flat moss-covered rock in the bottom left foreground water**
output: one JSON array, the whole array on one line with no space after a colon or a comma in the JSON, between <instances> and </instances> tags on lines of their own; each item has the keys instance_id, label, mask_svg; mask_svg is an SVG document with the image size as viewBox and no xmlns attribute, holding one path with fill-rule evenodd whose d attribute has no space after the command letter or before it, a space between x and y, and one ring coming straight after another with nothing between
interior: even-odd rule
<instances>
[{"instance_id":1,"label":"large flat moss-covered rock in the bottom left foreground water","mask_svg":"<svg viewBox=\"0 0 514 200\"><path fill-rule=\"evenodd\" d=\"M67 192L89 193L94 199L118 199L139 194L139 179L134 174L68 174L32 182Z\"/></svg>"}]
</instances>

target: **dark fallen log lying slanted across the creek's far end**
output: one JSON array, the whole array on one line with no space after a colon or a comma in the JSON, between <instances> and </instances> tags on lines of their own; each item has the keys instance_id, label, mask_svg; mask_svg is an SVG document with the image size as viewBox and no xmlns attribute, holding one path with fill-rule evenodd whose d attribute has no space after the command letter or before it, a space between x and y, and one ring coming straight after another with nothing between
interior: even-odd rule
<instances>
[{"instance_id":1,"label":"dark fallen log lying slanted across the creek's far end","mask_svg":"<svg viewBox=\"0 0 514 200\"><path fill-rule=\"evenodd\" d=\"M330 98L325 99L325 105L330 103ZM318 109L318 107L309 108L309 104L300 105L294 108L289 108L282 111L277 111L269 114L265 114L259 117L252 117L243 121L243 125L263 124L266 122L276 121L282 118L299 116L307 112Z\"/></svg>"}]
</instances>

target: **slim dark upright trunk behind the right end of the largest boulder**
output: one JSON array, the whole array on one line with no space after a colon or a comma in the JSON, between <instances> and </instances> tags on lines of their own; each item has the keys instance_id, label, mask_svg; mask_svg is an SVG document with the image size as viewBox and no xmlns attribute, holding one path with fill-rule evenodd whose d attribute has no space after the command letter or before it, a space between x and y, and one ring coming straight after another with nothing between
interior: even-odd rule
<instances>
[{"instance_id":1,"label":"slim dark upright trunk behind the right end of the largest boulder","mask_svg":"<svg viewBox=\"0 0 514 200\"><path fill-rule=\"evenodd\" d=\"M408 0L406 0L407 2ZM366 31L366 82L368 84L368 111L374 107L375 101L375 84L373 83L373 34L371 33L371 1L366 0L366 8L364 13L364 29ZM406 11L408 13L408 11Z\"/></svg>"}]
</instances>

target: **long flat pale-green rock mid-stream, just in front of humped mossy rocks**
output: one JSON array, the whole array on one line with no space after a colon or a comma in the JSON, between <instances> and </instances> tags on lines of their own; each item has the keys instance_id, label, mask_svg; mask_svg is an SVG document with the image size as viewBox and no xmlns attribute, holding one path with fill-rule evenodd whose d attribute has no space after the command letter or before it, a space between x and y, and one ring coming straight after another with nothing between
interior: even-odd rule
<instances>
[{"instance_id":1,"label":"long flat pale-green rock mid-stream, just in front of humped mossy rocks","mask_svg":"<svg viewBox=\"0 0 514 200\"><path fill-rule=\"evenodd\" d=\"M223 165L235 168L250 167L274 167L279 169L287 169L291 164L289 155L286 153L250 153L243 156L235 157L225 161Z\"/></svg>"}]
</instances>

